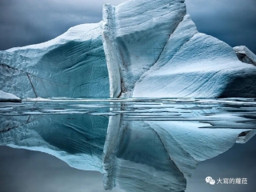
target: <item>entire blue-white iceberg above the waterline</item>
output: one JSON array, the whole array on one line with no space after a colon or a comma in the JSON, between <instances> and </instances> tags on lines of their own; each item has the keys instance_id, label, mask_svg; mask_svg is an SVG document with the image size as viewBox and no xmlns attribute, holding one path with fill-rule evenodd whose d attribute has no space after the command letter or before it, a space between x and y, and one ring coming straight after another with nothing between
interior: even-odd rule
<instances>
[{"instance_id":1,"label":"entire blue-white iceberg above the waterline","mask_svg":"<svg viewBox=\"0 0 256 192\"><path fill-rule=\"evenodd\" d=\"M103 6L102 22L0 51L0 90L19 98L255 97L256 68L246 61L199 33L183 0L128 1Z\"/></svg>"}]
</instances>

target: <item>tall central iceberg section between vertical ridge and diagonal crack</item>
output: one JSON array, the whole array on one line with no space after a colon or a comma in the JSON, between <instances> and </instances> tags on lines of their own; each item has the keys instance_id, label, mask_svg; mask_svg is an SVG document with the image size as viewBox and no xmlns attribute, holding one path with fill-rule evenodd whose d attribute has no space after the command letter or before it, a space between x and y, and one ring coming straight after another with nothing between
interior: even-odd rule
<instances>
[{"instance_id":1,"label":"tall central iceberg section between vertical ridge and diagonal crack","mask_svg":"<svg viewBox=\"0 0 256 192\"><path fill-rule=\"evenodd\" d=\"M132 91L134 83L158 60L166 39L186 14L182 2L128 1L116 7L103 6L103 44L111 71L111 97Z\"/></svg>"}]
</instances>

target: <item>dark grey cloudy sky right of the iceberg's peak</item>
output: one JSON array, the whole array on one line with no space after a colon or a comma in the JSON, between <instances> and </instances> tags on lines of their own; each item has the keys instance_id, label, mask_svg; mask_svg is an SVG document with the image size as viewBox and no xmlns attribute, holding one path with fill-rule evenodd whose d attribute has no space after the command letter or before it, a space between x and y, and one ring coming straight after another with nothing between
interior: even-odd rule
<instances>
[{"instance_id":1,"label":"dark grey cloudy sky right of the iceberg's peak","mask_svg":"<svg viewBox=\"0 0 256 192\"><path fill-rule=\"evenodd\" d=\"M187 13L198 30L228 43L248 46L256 53L256 2L254 0L186 0Z\"/></svg>"}]
</instances>

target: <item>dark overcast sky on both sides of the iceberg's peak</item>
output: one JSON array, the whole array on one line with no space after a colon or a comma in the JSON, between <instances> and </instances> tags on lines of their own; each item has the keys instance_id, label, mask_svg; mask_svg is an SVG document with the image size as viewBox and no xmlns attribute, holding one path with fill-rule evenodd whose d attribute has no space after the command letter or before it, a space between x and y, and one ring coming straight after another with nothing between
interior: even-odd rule
<instances>
[{"instance_id":1,"label":"dark overcast sky on both sides of the iceberg's peak","mask_svg":"<svg viewBox=\"0 0 256 192\"><path fill-rule=\"evenodd\" d=\"M45 42L71 26L102 20L102 5L124 0L0 0L0 50ZM186 0L200 32L256 53L255 0Z\"/></svg>"}]
</instances>

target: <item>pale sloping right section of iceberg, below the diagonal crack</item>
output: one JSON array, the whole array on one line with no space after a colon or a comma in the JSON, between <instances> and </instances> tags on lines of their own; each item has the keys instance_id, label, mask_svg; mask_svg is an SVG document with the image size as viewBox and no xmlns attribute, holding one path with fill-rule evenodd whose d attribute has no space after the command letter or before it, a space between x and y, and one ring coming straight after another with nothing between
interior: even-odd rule
<instances>
[{"instance_id":1,"label":"pale sloping right section of iceberg, below the diagonal crack","mask_svg":"<svg viewBox=\"0 0 256 192\"><path fill-rule=\"evenodd\" d=\"M198 33L186 15L133 97L254 97L255 73L226 43Z\"/></svg>"}]
</instances>

